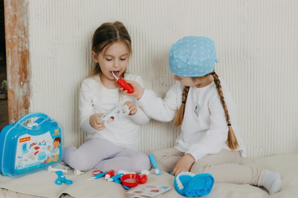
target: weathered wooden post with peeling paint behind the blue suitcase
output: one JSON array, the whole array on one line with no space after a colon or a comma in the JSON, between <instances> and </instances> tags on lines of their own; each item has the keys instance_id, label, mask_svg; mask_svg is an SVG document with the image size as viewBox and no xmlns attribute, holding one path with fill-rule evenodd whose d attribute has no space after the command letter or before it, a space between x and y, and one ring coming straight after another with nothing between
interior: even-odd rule
<instances>
[{"instance_id":1,"label":"weathered wooden post with peeling paint behind the blue suitcase","mask_svg":"<svg viewBox=\"0 0 298 198\"><path fill-rule=\"evenodd\" d=\"M28 0L4 0L9 123L29 112Z\"/></svg>"}]
</instances>

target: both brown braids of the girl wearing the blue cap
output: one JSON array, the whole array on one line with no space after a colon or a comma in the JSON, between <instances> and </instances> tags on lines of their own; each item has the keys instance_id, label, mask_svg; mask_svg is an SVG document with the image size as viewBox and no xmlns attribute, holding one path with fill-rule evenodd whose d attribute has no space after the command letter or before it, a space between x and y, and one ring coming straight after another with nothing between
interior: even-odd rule
<instances>
[{"instance_id":1,"label":"both brown braids of the girl wearing the blue cap","mask_svg":"<svg viewBox=\"0 0 298 198\"><path fill-rule=\"evenodd\" d=\"M235 150L236 148L238 148L238 142L237 142L235 133L231 127L230 117L229 117L228 110L227 110L227 107L226 107L226 104L224 101L224 95L223 95L223 91L222 91L221 81L219 79L219 76L215 72L212 72L210 74L214 78L214 83L216 85L217 91L218 91L221 101L222 101L222 105L224 107L225 120L226 120L226 123L228 126L228 134L227 134L227 140L226 140L227 146L229 148ZM183 117L184 117L185 102L187 99L188 91L189 91L189 87L184 87L183 93L182 93L182 104L179 107L179 110L177 111L176 117L175 117L174 123L176 126L179 126L182 124Z\"/></svg>"}]
</instances>

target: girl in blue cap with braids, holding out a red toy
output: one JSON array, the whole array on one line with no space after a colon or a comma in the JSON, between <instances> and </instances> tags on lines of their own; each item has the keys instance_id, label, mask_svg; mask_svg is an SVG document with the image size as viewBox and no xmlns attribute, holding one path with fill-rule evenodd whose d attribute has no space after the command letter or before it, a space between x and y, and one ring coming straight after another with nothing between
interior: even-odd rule
<instances>
[{"instance_id":1,"label":"girl in blue cap with braids, holding out a red toy","mask_svg":"<svg viewBox=\"0 0 298 198\"><path fill-rule=\"evenodd\" d=\"M175 119L181 133L174 148L154 151L158 167L178 175L210 173L215 182L264 186L270 194L281 188L278 172L240 165L246 149L238 134L237 115L231 94L215 73L214 41L184 37L172 45L169 67L176 83L164 99L128 81L137 103L156 120ZM126 92L124 92L127 94Z\"/></svg>"}]
</instances>

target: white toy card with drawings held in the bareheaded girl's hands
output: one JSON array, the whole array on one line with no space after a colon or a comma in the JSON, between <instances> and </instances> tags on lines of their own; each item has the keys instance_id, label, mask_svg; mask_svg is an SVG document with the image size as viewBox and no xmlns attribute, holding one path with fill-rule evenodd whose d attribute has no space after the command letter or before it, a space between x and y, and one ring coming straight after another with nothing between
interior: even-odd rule
<instances>
[{"instance_id":1,"label":"white toy card with drawings held in the bareheaded girl's hands","mask_svg":"<svg viewBox=\"0 0 298 198\"><path fill-rule=\"evenodd\" d=\"M125 115L130 113L129 108L127 105L123 106L114 106L110 110L108 110L105 114L99 117L100 120L105 120L103 125L109 125L114 123L116 120L122 118Z\"/></svg>"}]
</instances>

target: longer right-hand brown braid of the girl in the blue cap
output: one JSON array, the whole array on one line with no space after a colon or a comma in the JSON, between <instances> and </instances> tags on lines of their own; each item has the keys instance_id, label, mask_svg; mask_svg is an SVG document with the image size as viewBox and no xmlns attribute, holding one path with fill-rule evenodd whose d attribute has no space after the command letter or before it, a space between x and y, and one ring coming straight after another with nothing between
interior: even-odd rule
<instances>
[{"instance_id":1,"label":"longer right-hand brown braid of the girl in the blue cap","mask_svg":"<svg viewBox=\"0 0 298 198\"><path fill-rule=\"evenodd\" d=\"M214 83L216 85L216 88L218 90L218 93L220 95L220 98L221 98L221 101L222 101L222 104L224 107L225 120L226 120L226 123L228 126L227 146L229 148L235 150L238 147L238 142L237 142L235 133L231 127L230 117L229 117L228 110L227 110L227 107L226 107L226 104L224 101L224 94L222 91L221 81L219 79L219 76L215 72L212 72L212 76L214 78Z\"/></svg>"}]
</instances>

